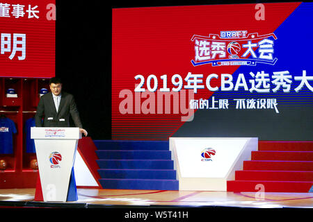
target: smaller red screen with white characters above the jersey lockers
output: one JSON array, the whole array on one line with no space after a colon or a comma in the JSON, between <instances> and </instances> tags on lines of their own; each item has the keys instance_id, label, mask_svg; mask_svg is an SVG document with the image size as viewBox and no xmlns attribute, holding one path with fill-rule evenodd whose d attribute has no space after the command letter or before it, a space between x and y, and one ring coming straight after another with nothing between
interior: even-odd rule
<instances>
[{"instance_id":1,"label":"smaller red screen with white characters above the jersey lockers","mask_svg":"<svg viewBox=\"0 0 313 222\"><path fill-rule=\"evenodd\" d=\"M0 1L0 76L55 75L55 1Z\"/></svg>"}]
</instances>

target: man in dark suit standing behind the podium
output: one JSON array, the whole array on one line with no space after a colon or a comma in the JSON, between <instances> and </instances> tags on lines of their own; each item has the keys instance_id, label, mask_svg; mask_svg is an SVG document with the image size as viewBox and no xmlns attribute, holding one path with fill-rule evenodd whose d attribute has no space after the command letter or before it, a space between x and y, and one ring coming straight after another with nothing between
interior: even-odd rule
<instances>
[{"instance_id":1,"label":"man in dark suit standing behind the podium","mask_svg":"<svg viewBox=\"0 0 313 222\"><path fill-rule=\"evenodd\" d=\"M87 131L83 129L79 112L74 101L74 96L62 92L62 83L59 78L51 78L49 81L51 92L43 95L37 106L35 114L36 127L68 127L70 126L70 115L76 127L81 133L87 136ZM42 124L42 117L44 121Z\"/></svg>"}]
</instances>

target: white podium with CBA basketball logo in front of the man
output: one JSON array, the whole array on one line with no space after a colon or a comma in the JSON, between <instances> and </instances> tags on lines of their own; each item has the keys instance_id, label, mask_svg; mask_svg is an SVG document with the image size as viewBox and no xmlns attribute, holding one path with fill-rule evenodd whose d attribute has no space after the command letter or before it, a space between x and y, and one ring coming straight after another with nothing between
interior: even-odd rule
<instances>
[{"instance_id":1,"label":"white podium with CBA basketball logo in front of the man","mask_svg":"<svg viewBox=\"0 0 313 222\"><path fill-rule=\"evenodd\" d=\"M43 200L76 201L74 161L81 139L79 128L32 127L31 139L35 140Z\"/></svg>"}]
</instances>

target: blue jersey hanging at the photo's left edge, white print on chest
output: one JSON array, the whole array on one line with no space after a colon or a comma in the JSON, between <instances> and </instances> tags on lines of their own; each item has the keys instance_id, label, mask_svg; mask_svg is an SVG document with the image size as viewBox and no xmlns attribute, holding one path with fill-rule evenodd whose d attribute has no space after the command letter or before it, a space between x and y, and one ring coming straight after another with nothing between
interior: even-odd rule
<instances>
[{"instance_id":1,"label":"blue jersey hanging at the photo's left edge, white print on chest","mask_svg":"<svg viewBox=\"0 0 313 222\"><path fill-rule=\"evenodd\" d=\"M13 133L17 133L15 123L8 118L0 118L0 153L13 153Z\"/></svg>"}]
</instances>

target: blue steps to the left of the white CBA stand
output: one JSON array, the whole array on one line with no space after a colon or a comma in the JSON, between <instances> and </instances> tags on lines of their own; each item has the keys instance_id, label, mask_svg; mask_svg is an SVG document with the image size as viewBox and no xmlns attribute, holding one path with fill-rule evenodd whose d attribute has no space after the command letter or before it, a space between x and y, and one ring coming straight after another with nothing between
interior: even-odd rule
<instances>
[{"instance_id":1,"label":"blue steps to the left of the white CBA stand","mask_svg":"<svg viewBox=\"0 0 313 222\"><path fill-rule=\"evenodd\" d=\"M104 189L178 190L167 141L94 140Z\"/></svg>"}]
</instances>

